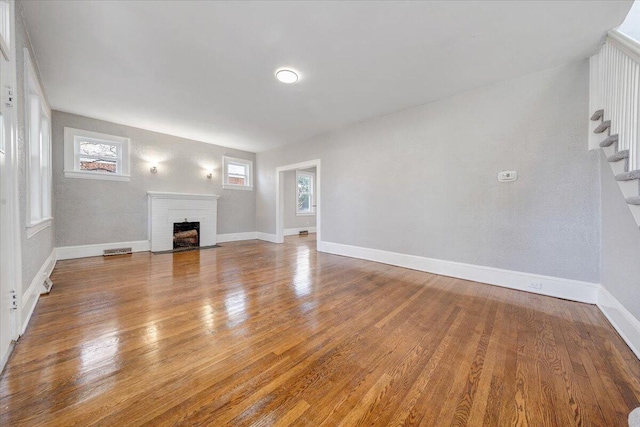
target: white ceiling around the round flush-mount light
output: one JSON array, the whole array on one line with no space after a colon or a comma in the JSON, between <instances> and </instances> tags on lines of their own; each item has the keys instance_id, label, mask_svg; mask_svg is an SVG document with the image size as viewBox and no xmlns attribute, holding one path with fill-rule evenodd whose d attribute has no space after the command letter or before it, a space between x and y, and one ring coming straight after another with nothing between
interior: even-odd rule
<instances>
[{"instance_id":1,"label":"white ceiling around the round flush-mount light","mask_svg":"<svg viewBox=\"0 0 640 427\"><path fill-rule=\"evenodd\" d=\"M52 108L259 152L585 58L632 2L22 4Z\"/></svg>"}]
</instances>

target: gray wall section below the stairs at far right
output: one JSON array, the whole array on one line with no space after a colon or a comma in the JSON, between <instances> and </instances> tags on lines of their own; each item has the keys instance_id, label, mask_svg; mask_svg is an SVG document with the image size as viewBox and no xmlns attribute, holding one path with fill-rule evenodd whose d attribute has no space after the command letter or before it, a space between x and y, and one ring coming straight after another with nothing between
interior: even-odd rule
<instances>
[{"instance_id":1,"label":"gray wall section below the stairs at far right","mask_svg":"<svg viewBox=\"0 0 640 427\"><path fill-rule=\"evenodd\" d=\"M636 319L640 319L640 229L629 211L604 153L601 155L600 167L601 283Z\"/></svg>"}]
</instances>

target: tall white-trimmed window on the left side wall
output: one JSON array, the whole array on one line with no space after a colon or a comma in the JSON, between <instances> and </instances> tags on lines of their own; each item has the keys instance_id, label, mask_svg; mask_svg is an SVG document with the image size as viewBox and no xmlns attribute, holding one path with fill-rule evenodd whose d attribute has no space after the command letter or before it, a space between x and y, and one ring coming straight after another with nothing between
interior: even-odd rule
<instances>
[{"instance_id":1,"label":"tall white-trimmed window on the left side wall","mask_svg":"<svg viewBox=\"0 0 640 427\"><path fill-rule=\"evenodd\" d=\"M27 237L51 225L51 119L29 51L24 49Z\"/></svg>"}]
</instances>

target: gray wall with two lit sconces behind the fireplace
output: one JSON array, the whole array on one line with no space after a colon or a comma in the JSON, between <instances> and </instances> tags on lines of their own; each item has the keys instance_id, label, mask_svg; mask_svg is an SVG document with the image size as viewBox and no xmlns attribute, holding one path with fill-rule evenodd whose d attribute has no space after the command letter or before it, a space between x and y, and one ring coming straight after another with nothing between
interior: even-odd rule
<instances>
[{"instance_id":1,"label":"gray wall with two lit sconces behind the fireplace","mask_svg":"<svg viewBox=\"0 0 640 427\"><path fill-rule=\"evenodd\" d=\"M65 127L131 138L131 181L65 178ZM56 246L147 240L147 191L219 194L218 234L255 231L254 191L222 189L224 155L255 162L253 153L54 111ZM154 159L161 160L156 174Z\"/></svg>"}]
</instances>

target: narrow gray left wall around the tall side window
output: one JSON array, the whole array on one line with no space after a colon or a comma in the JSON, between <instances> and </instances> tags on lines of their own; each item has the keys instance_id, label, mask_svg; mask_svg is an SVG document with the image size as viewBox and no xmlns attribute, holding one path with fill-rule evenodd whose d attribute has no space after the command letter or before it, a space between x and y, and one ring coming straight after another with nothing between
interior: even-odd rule
<instances>
[{"instance_id":1,"label":"narrow gray left wall around the tall side window","mask_svg":"<svg viewBox=\"0 0 640 427\"><path fill-rule=\"evenodd\" d=\"M29 41L29 36L22 19L22 4L16 2L16 65L17 65L17 104L16 111L18 113L18 163L20 167L18 192L20 198L20 224L22 231L22 293L27 290L33 278L42 267L47 257L51 255L54 248L54 226L45 228L38 232L35 236L27 238L26 221L27 221L27 151L25 142L25 117L24 117L24 52L23 48L29 49L31 62L36 68L38 79L40 72L36 62L36 56L33 47ZM46 91L46 88L43 88ZM45 93L46 96L46 93ZM53 201L55 205L55 201ZM54 222L55 225L55 222Z\"/></svg>"}]
</instances>

